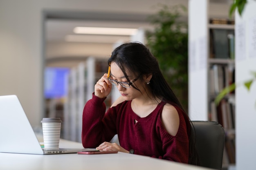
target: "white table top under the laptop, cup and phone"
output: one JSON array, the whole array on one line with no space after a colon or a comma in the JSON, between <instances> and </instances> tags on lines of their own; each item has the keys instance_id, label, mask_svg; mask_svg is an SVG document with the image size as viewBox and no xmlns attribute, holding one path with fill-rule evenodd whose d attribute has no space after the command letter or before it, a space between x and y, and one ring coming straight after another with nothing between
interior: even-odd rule
<instances>
[{"instance_id":1,"label":"white table top under the laptop, cup and phone","mask_svg":"<svg viewBox=\"0 0 256 170\"><path fill-rule=\"evenodd\" d=\"M60 148L82 148L61 139ZM101 155L0 153L0 170L209 170L184 163L119 152Z\"/></svg>"}]
</instances>

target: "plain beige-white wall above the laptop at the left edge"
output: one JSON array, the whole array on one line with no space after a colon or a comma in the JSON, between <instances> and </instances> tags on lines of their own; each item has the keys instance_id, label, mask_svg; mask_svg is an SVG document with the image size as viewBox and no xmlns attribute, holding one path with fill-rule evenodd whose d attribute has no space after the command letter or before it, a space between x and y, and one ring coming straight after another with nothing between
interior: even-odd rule
<instances>
[{"instance_id":1,"label":"plain beige-white wall above the laptop at the left edge","mask_svg":"<svg viewBox=\"0 0 256 170\"><path fill-rule=\"evenodd\" d=\"M42 25L35 2L0 1L0 95L18 95L32 125L43 113Z\"/></svg>"}]
</instances>

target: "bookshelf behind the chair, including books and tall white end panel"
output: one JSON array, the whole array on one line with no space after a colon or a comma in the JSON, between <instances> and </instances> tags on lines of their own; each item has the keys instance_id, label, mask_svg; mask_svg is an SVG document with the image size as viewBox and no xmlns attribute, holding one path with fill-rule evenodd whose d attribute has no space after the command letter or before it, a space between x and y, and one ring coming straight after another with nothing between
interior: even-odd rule
<instances>
[{"instance_id":1,"label":"bookshelf behind the chair, including books and tall white end panel","mask_svg":"<svg viewBox=\"0 0 256 170\"><path fill-rule=\"evenodd\" d=\"M218 106L214 99L235 81L235 25L228 16L211 18L209 6L209 0L189 1L189 116L224 127L222 169L231 169L236 164L235 93L226 95Z\"/></svg>"}]
</instances>

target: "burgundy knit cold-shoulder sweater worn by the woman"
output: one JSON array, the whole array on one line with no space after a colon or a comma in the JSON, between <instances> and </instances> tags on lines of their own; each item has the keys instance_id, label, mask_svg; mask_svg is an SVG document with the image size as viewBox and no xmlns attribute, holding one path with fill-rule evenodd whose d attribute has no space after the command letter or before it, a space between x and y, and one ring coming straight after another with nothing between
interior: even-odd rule
<instances>
[{"instance_id":1,"label":"burgundy knit cold-shoulder sweater worn by the woman","mask_svg":"<svg viewBox=\"0 0 256 170\"><path fill-rule=\"evenodd\" d=\"M92 96L83 110L82 143L84 148L96 148L104 141L118 135L120 146L134 150L134 154L146 155L188 163L190 123L186 113L173 105L180 117L180 126L175 136L166 132L161 115L162 101L147 117L139 117L125 101L106 111L105 99ZM135 124L135 121L137 123Z\"/></svg>"}]
</instances>

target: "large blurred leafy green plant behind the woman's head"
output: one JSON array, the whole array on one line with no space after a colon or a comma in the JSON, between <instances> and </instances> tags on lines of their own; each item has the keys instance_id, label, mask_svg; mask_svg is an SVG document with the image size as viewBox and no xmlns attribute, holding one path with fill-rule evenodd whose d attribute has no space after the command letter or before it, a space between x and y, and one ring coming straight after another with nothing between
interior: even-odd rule
<instances>
[{"instance_id":1,"label":"large blurred leafy green plant behind the woman's head","mask_svg":"<svg viewBox=\"0 0 256 170\"><path fill-rule=\"evenodd\" d=\"M188 108L188 32L187 22L181 21L183 6L168 7L150 16L153 31L146 31L147 46L157 57L160 69L182 106Z\"/></svg>"}]
</instances>

